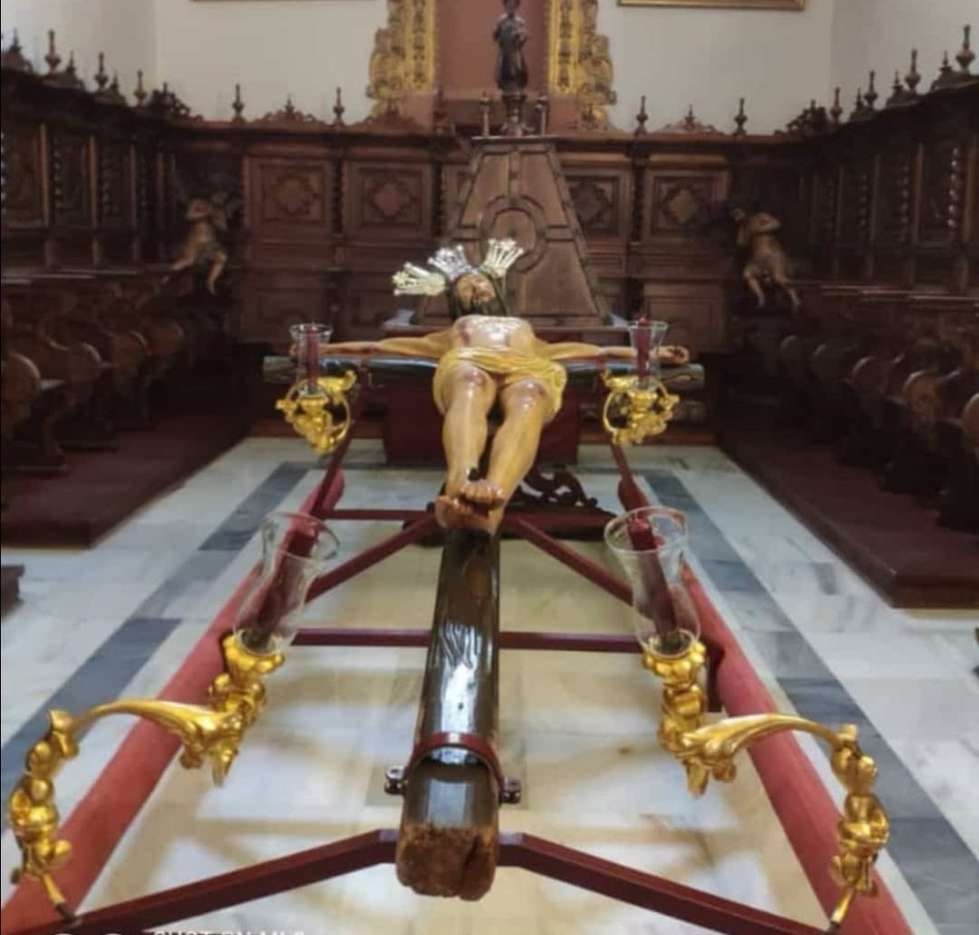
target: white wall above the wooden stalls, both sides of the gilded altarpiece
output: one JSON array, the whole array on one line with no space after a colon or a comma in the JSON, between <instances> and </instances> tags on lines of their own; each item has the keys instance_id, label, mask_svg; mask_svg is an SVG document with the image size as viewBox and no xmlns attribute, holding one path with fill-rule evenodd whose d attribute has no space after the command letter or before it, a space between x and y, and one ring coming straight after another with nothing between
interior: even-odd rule
<instances>
[{"instance_id":1,"label":"white wall above the wooden stalls, both sides of the gilded altarpiece","mask_svg":"<svg viewBox=\"0 0 979 935\"><path fill-rule=\"evenodd\" d=\"M619 95L612 119L630 129L645 94L650 129L678 120L692 104L700 119L730 130L743 96L748 130L771 132L813 98L828 104L837 84L849 110L871 67L886 98L894 69L905 73L915 45L926 88L942 52L956 53L970 16L979 28L976 6L808 0L802 12L781 12L600 0L598 25L610 39ZM38 67L46 30L55 28L62 55L73 49L89 81L102 50L127 93L142 67L148 82L168 81L213 119L230 117L236 82L250 117L278 110L287 94L301 110L330 117L341 85L351 122L370 110L367 66L374 32L386 19L384 0L4 0L2 16L5 39L17 26Z\"/></svg>"}]
</instances>

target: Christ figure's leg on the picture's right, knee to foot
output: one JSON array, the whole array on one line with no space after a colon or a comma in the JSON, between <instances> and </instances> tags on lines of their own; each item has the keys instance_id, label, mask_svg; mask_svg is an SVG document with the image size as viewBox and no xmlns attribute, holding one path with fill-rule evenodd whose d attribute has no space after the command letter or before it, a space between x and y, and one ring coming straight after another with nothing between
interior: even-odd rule
<instances>
[{"instance_id":1,"label":"Christ figure's leg on the picture's right, knee to foot","mask_svg":"<svg viewBox=\"0 0 979 935\"><path fill-rule=\"evenodd\" d=\"M503 424L493 438L486 480L467 485L462 491L464 500L483 508L474 511L469 524L489 533L496 531L506 504L534 466L540 432L551 405L546 390L532 379L505 387L499 398Z\"/></svg>"}]
</instances>

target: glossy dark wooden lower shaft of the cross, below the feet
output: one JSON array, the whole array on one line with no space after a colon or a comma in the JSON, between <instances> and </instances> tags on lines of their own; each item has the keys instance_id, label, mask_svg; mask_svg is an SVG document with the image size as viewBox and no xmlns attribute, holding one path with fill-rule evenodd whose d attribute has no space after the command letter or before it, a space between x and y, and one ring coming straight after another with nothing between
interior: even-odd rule
<instances>
[{"instance_id":1,"label":"glossy dark wooden lower shaft of the cross, below the feet","mask_svg":"<svg viewBox=\"0 0 979 935\"><path fill-rule=\"evenodd\" d=\"M439 592L408 766L389 771L404 808L397 878L426 896L480 899L499 849L503 778L498 740L499 540L445 533Z\"/></svg>"}]
</instances>

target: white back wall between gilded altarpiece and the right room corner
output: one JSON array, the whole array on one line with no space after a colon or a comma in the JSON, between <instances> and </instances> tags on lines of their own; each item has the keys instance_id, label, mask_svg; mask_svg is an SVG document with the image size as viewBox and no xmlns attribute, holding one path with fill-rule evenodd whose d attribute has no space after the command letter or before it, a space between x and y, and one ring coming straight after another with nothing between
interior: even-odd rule
<instances>
[{"instance_id":1,"label":"white back wall between gilded altarpiece and the right room corner","mask_svg":"<svg viewBox=\"0 0 979 935\"><path fill-rule=\"evenodd\" d=\"M609 37L619 96L613 122L634 127L645 94L647 129L675 122L692 105L701 120L728 132L743 97L749 133L780 129L813 98L826 102L833 6L808 0L802 11L718 10L601 0L598 26Z\"/></svg>"}]
</instances>

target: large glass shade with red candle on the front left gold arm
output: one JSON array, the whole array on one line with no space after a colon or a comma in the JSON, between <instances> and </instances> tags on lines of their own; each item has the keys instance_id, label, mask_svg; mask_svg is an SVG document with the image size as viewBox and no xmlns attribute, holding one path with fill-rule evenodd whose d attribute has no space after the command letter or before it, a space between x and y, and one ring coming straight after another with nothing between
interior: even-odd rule
<instances>
[{"instance_id":1,"label":"large glass shade with red candle on the front left gold arm","mask_svg":"<svg viewBox=\"0 0 979 935\"><path fill-rule=\"evenodd\" d=\"M293 642L309 586L339 545L315 516L273 512L262 520L261 570L235 619L235 633L244 646L253 652L280 652Z\"/></svg>"}]
</instances>

